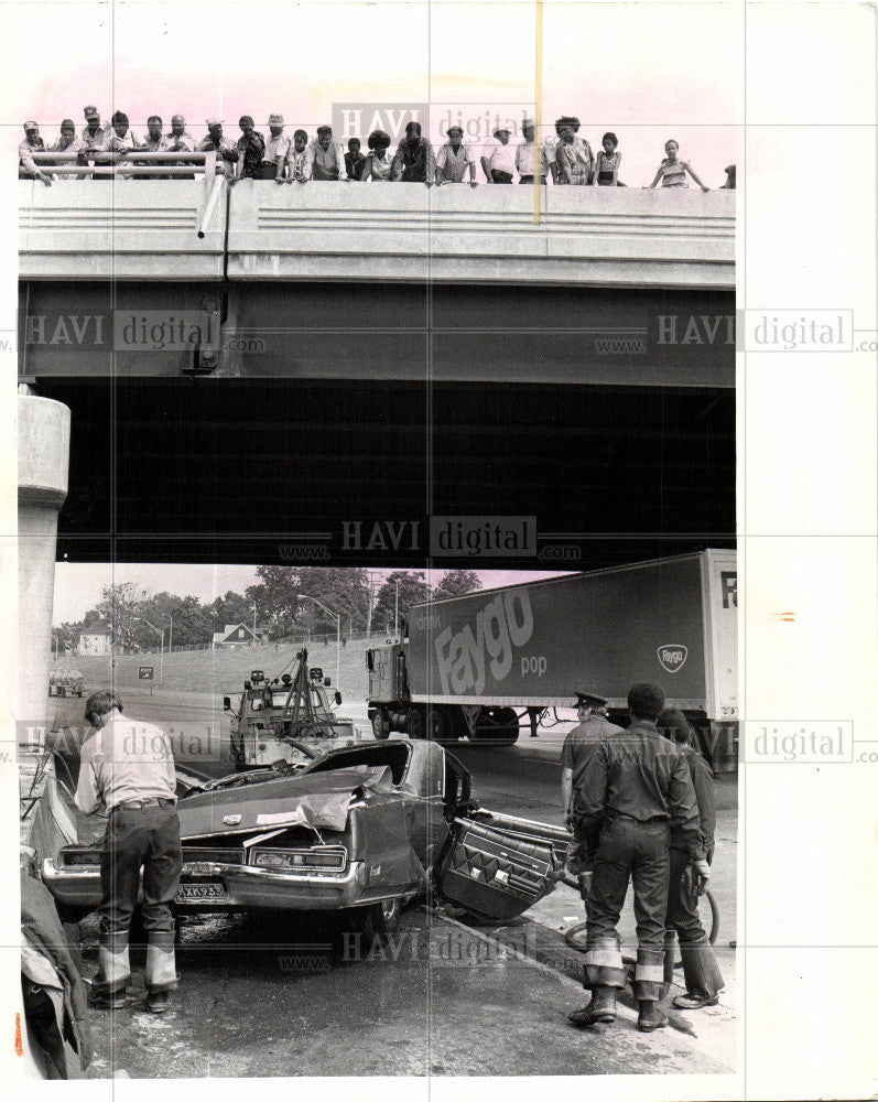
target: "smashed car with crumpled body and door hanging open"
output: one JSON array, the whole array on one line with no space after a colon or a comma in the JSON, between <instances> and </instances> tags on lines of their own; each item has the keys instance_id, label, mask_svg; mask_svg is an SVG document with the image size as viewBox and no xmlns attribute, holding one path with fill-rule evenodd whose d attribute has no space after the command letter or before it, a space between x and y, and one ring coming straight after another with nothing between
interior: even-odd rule
<instances>
[{"instance_id":1,"label":"smashed car with crumpled body and door hanging open","mask_svg":"<svg viewBox=\"0 0 878 1102\"><path fill-rule=\"evenodd\" d=\"M182 784L180 915L337 910L380 930L432 890L503 921L554 888L568 841L563 828L478 808L466 768L430 742L361 743L300 769ZM66 921L100 903L99 863L100 843L43 862Z\"/></svg>"}]
</instances>

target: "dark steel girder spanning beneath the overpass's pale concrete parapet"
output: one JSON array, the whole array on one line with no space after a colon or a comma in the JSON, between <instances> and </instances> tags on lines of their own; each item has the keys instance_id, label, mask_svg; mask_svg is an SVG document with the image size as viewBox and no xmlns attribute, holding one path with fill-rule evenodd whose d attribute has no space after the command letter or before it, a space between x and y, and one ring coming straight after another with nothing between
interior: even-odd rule
<instances>
[{"instance_id":1,"label":"dark steel girder spanning beneath the overpass's pale concrete parapet","mask_svg":"<svg viewBox=\"0 0 878 1102\"><path fill-rule=\"evenodd\" d=\"M29 281L21 375L734 387L730 291Z\"/></svg>"}]
</instances>

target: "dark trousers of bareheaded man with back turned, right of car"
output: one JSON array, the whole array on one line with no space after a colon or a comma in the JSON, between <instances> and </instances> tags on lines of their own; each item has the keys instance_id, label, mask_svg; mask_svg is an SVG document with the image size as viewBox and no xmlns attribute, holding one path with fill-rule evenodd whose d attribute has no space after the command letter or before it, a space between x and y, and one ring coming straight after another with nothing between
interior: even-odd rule
<instances>
[{"instance_id":1,"label":"dark trousers of bareheaded man with back turned, right of car","mask_svg":"<svg viewBox=\"0 0 878 1102\"><path fill-rule=\"evenodd\" d=\"M664 979L664 920L670 860L668 823L611 817L600 833L586 901L586 985L620 987L624 971L619 922L628 883L635 893L637 966L635 997L659 998Z\"/></svg>"}]
</instances>

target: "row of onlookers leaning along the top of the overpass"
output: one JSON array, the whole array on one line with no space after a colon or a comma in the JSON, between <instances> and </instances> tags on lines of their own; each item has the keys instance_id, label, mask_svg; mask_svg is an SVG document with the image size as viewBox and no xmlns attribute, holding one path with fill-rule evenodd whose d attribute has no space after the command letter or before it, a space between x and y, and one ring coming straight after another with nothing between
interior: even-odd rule
<instances>
[{"instance_id":1,"label":"row of onlookers leaning along the top of the overpass","mask_svg":"<svg viewBox=\"0 0 878 1102\"><path fill-rule=\"evenodd\" d=\"M101 168L107 165L121 164L119 172L123 175L126 164L152 164L139 161L138 154L215 153L217 170L229 182L408 181L427 186L468 182L470 187L476 187L478 163L489 184L533 184L539 177L542 184L551 180L553 184L626 186L619 180L621 151L616 134L605 133L595 155L588 142L578 136L579 120L573 116L557 119L554 133L541 142L535 139L533 120L525 118L521 123L523 140L517 144L510 143L512 130L506 123L498 123L492 137L480 147L465 142L463 128L452 126L445 134L447 141L437 149L422 134L419 122L410 122L405 137L391 154L393 141L384 130L372 130L366 139L366 151L359 138L350 138L345 151L329 126L317 127L313 138L302 129L294 130L292 137L286 134L282 115L269 116L268 138L256 129L253 119L245 115L238 122L239 138L228 137L223 121L209 118L206 120L207 134L196 140L182 115L172 117L167 132L158 115L150 116L147 132L136 134L122 111L116 111L109 125L101 121L96 107L86 107L84 114L86 125L78 136L74 121L65 119L61 134L50 144L41 137L36 122L25 122L24 141L19 145L19 174L46 185L52 183L53 166L37 164L34 161L36 153L66 154L55 160L88 166L87 174L95 177L100 177ZM477 148L481 150L478 162ZM664 159L649 186L687 187L689 176L702 191L708 191L692 165L680 159L679 152L675 141L665 142ZM165 165L173 164L170 158L156 160ZM186 172L185 165L185 159L178 162L173 175L192 179L194 172ZM723 187L735 187L735 165L728 165L725 172ZM151 168L150 174L161 177L161 166Z\"/></svg>"}]
</instances>

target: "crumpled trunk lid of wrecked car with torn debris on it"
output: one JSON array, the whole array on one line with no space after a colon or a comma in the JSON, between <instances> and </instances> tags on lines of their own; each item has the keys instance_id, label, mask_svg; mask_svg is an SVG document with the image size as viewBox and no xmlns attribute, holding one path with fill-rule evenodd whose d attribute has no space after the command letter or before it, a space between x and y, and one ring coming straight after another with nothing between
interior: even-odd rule
<instances>
[{"instance_id":1,"label":"crumpled trunk lid of wrecked car with torn debris on it","mask_svg":"<svg viewBox=\"0 0 878 1102\"><path fill-rule=\"evenodd\" d=\"M177 806L181 838L248 834L297 824L342 831L350 803L386 789L389 773L383 767L336 769L187 796Z\"/></svg>"}]
</instances>

